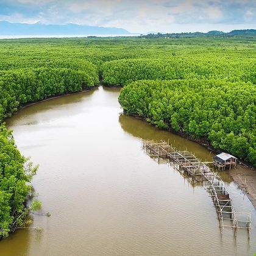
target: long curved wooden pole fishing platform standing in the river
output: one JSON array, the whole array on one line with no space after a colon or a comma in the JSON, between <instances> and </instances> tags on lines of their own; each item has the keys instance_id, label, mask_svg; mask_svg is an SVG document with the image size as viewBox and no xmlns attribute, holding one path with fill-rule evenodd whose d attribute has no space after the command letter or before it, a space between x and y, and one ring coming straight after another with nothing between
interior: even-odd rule
<instances>
[{"instance_id":1,"label":"long curved wooden pole fishing platform standing in the river","mask_svg":"<svg viewBox=\"0 0 256 256\"><path fill-rule=\"evenodd\" d=\"M205 182L205 187L212 197L213 204L219 219L219 226L238 229L247 229L251 232L251 213L236 212L232 199L229 196L225 184L218 172L210 169L206 163L199 160L194 154L188 151L178 151L166 141L143 140L142 149L154 160L164 158L169 163L176 164L176 169L186 172L193 179Z\"/></svg>"}]
</instances>

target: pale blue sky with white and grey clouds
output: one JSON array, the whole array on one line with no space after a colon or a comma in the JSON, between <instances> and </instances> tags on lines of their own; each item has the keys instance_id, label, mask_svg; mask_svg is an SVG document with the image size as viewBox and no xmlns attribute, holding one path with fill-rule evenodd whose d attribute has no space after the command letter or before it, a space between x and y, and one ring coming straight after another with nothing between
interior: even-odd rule
<instances>
[{"instance_id":1,"label":"pale blue sky with white and grey clouds","mask_svg":"<svg viewBox=\"0 0 256 256\"><path fill-rule=\"evenodd\" d=\"M256 29L256 0L0 0L0 21L121 27L132 33Z\"/></svg>"}]
</instances>

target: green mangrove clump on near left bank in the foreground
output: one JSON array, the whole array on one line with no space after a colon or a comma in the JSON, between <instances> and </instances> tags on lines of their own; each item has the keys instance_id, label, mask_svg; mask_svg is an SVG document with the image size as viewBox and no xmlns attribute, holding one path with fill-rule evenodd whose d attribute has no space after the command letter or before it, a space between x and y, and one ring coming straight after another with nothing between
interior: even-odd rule
<instances>
[{"instance_id":1,"label":"green mangrove clump on near left bank in the foreground","mask_svg":"<svg viewBox=\"0 0 256 256\"><path fill-rule=\"evenodd\" d=\"M0 238L23 226L28 210L25 205L30 186L25 158L16 149L12 134L0 127Z\"/></svg>"}]
</instances>

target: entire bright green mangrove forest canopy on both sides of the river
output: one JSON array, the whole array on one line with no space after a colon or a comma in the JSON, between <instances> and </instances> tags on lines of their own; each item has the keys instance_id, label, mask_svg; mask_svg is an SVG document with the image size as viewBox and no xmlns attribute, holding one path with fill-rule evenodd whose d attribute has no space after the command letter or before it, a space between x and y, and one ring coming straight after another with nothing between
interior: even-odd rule
<instances>
[{"instance_id":1,"label":"entire bright green mangrove forest canopy on both sides of the river","mask_svg":"<svg viewBox=\"0 0 256 256\"><path fill-rule=\"evenodd\" d=\"M27 182L35 171L16 149L4 118L24 104L98 85L99 77L107 85L126 85L119 102L127 113L206 138L255 165L255 41L0 40L0 238L26 223Z\"/></svg>"}]
</instances>

